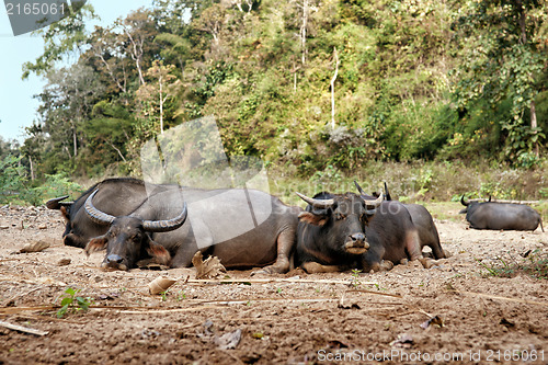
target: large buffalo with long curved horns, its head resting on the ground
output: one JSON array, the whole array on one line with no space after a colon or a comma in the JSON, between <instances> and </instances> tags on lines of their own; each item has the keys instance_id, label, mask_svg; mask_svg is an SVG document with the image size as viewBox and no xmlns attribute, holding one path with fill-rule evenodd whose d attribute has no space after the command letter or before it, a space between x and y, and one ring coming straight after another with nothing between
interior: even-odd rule
<instances>
[{"instance_id":1,"label":"large buffalo with long curved horns, its head resting on the ground","mask_svg":"<svg viewBox=\"0 0 548 365\"><path fill-rule=\"evenodd\" d=\"M300 209L270 194L240 189L170 189L118 217L95 207L95 194L87 197L85 213L107 231L92 238L85 251L106 248L105 267L127 270L147 259L170 267L190 266L199 250L218 256L228 269L289 270ZM175 227L183 204L189 206L187 218ZM149 232L148 226L155 229Z\"/></svg>"}]
</instances>

